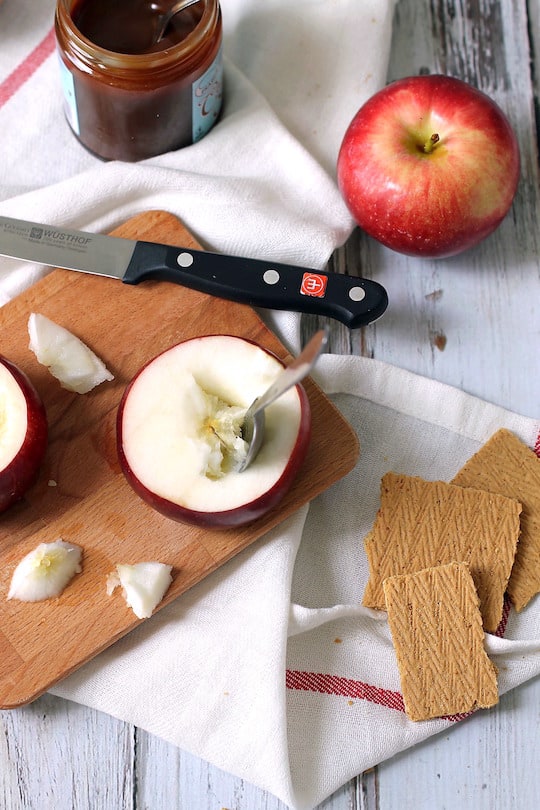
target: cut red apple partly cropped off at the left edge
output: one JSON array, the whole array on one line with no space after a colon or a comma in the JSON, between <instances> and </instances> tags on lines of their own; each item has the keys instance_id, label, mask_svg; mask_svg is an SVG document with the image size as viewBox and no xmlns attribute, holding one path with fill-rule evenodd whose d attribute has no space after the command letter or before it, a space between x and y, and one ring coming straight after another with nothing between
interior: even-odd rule
<instances>
[{"instance_id":1,"label":"cut red apple partly cropped off at the left edge","mask_svg":"<svg viewBox=\"0 0 540 810\"><path fill-rule=\"evenodd\" d=\"M37 478L47 449L47 416L27 375L0 356L0 512Z\"/></svg>"}]
</instances>

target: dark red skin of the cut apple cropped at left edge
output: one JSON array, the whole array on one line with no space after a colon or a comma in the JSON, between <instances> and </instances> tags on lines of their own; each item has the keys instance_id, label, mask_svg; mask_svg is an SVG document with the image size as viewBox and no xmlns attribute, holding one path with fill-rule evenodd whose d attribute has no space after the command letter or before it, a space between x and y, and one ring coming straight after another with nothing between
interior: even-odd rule
<instances>
[{"instance_id":1,"label":"dark red skin of the cut apple cropped at left edge","mask_svg":"<svg viewBox=\"0 0 540 810\"><path fill-rule=\"evenodd\" d=\"M0 512L20 500L35 483L48 442L48 424L45 406L30 378L18 366L0 355L3 371L13 378L26 404L26 433L11 458L4 458L4 444L0 441ZM0 377L0 391L1 391ZM5 392L4 392L5 393ZM3 413L0 424L10 430L9 416ZM4 419L6 421L4 422Z\"/></svg>"}]
</instances>

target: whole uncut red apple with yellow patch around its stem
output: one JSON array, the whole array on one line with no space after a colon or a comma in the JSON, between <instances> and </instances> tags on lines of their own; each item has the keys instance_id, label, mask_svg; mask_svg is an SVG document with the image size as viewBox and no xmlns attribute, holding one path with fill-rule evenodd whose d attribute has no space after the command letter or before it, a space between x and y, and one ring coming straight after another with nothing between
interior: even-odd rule
<instances>
[{"instance_id":1,"label":"whole uncut red apple with yellow patch around its stem","mask_svg":"<svg viewBox=\"0 0 540 810\"><path fill-rule=\"evenodd\" d=\"M500 107L442 75L399 79L368 99L337 161L358 225L399 253L426 258L489 236L508 213L519 172L517 138Z\"/></svg>"}]
</instances>

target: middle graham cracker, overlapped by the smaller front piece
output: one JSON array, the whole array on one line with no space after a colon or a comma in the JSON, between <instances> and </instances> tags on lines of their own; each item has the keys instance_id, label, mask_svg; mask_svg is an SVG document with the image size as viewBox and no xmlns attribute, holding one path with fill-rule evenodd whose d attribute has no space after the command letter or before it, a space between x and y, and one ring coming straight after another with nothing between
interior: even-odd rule
<instances>
[{"instance_id":1,"label":"middle graham cracker, overlapped by the smaller front piece","mask_svg":"<svg viewBox=\"0 0 540 810\"><path fill-rule=\"evenodd\" d=\"M444 481L387 473L381 506L364 540L366 607L384 610L383 580L465 562L480 598L484 629L495 632L519 537L521 504L503 495Z\"/></svg>"}]
</instances>

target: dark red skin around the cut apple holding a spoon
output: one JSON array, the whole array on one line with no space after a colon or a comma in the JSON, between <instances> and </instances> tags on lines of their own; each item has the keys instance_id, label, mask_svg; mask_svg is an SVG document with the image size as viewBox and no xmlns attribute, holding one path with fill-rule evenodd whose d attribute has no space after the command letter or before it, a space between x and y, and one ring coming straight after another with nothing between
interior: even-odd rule
<instances>
[{"instance_id":1,"label":"dark red skin around the cut apple holding a spoon","mask_svg":"<svg viewBox=\"0 0 540 810\"><path fill-rule=\"evenodd\" d=\"M209 335L206 337L213 338L213 337L230 337L230 336ZM204 340L204 337L190 338L188 340ZM249 339L241 338L240 340L243 340L245 343L257 346L259 349L262 349L262 351L264 351L267 355L276 360L281 366L284 366L284 363L273 352L270 352L268 349L264 349L262 346L259 346L257 343ZM175 347L172 348L174 349ZM170 349L166 349L165 352L162 352L162 354L166 354L168 351L170 351ZM137 495L143 501L149 504L157 512L161 513L162 515L165 515L165 517L170 518L172 520L192 524L200 528L227 529L252 523L253 521L262 517L271 509L276 507L279 504L279 502L283 499L283 497L286 495L286 493L289 491L298 473L300 472L307 451L309 449L309 444L311 440L311 408L309 398L304 387L301 384L295 386L300 401L300 424L296 436L296 441L290 452L288 462L284 467L278 480L276 480L267 491L263 492L258 497L254 498L251 501L242 503L241 505L236 506L232 509L221 509L215 511L196 510L183 506L182 504L176 503L168 498L164 498L159 494L151 491L147 486L145 486L145 484L143 484L140 481L138 476L133 472L130 463L128 461L126 452L124 450L123 417L126 402L130 395L130 391L132 390L133 386L136 384L139 376L144 372L144 370L149 365L151 365L154 362L154 360L158 359L159 357L160 355L158 355L157 358L153 358L152 360L150 360L145 366L143 366L137 372L137 374L133 377L133 379L125 389L118 407L117 422L116 422L117 453L120 467L122 469L122 472L124 473L127 482L132 487L134 492L136 492ZM239 475L245 474L246 473L239 473Z\"/></svg>"}]
</instances>

